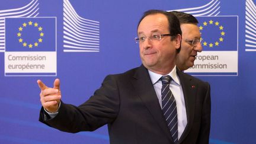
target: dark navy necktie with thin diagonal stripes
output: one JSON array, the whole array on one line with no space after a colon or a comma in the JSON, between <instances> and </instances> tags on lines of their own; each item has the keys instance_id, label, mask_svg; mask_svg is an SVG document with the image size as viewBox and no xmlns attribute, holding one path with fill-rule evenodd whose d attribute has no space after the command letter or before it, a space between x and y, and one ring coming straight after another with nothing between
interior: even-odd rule
<instances>
[{"instance_id":1,"label":"dark navy necktie with thin diagonal stripes","mask_svg":"<svg viewBox=\"0 0 256 144\"><path fill-rule=\"evenodd\" d=\"M162 111L164 113L165 120L172 135L174 143L178 142L178 118L177 107L174 95L169 89L169 83L171 82L171 76L162 76Z\"/></svg>"}]
</instances>

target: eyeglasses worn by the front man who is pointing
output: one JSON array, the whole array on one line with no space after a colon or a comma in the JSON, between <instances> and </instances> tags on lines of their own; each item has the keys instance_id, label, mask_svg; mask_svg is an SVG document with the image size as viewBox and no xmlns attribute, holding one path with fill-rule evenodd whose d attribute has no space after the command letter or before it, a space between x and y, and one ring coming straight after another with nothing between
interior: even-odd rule
<instances>
[{"instance_id":1,"label":"eyeglasses worn by the front man who is pointing","mask_svg":"<svg viewBox=\"0 0 256 144\"><path fill-rule=\"evenodd\" d=\"M159 33L152 33L151 36L148 38L150 41L159 41L162 39L164 36L173 36L172 34L159 34ZM135 37L135 42L136 43L143 43L146 40L145 35L141 35L138 37Z\"/></svg>"}]
</instances>

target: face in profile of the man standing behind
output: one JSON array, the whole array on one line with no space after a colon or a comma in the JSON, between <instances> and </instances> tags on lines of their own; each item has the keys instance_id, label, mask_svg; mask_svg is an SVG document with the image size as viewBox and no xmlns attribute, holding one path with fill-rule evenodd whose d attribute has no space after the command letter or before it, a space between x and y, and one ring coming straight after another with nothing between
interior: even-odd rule
<instances>
[{"instance_id":1,"label":"face in profile of the man standing behind","mask_svg":"<svg viewBox=\"0 0 256 144\"><path fill-rule=\"evenodd\" d=\"M203 49L201 43L193 46L191 41L193 39L200 40L201 34L199 27L196 24L181 24L182 41L181 50L177 55L177 66L181 71L184 71L194 65L196 60L197 52L201 52Z\"/></svg>"}]
</instances>

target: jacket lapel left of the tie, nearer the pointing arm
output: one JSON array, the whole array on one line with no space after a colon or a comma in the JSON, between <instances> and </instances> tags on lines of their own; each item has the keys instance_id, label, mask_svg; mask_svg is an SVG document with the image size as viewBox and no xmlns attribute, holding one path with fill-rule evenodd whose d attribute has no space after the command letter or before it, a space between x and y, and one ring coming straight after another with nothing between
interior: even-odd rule
<instances>
[{"instance_id":1,"label":"jacket lapel left of the tie, nearer the pointing arm","mask_svg":"<svg viewBox=\"0 0 256 144\"><path fill-rule=\"evenodd\" d=\"M135 79L132 81L132 84L135 91L138 92L140 99L146 105L152 114L152 117L156 120L158 126L164 131L171 142L171 133L169 132L165 118L162 114L162 109L159 105L155 89L153 88L148 69L146 69L143 65L140 66L133 77Z\"/></svg>"}]
</instances>

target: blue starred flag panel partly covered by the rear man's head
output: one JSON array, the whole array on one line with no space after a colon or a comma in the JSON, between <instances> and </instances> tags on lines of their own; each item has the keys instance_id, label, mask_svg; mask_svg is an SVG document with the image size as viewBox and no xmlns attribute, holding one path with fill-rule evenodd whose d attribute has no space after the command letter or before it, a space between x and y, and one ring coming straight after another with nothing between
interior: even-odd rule
<instances>
[{"instance_id":1,"label":"blue starred flag panel partly covered by the rear man's head","mask_svg":"<svg viewBox=\"0 0 256 144\"><path fill-rule=\"evenodd\" d=\"M203 50L237 50L238 17L197 17L197 20L199 20Z\"/></svg>"}]
</instances>

